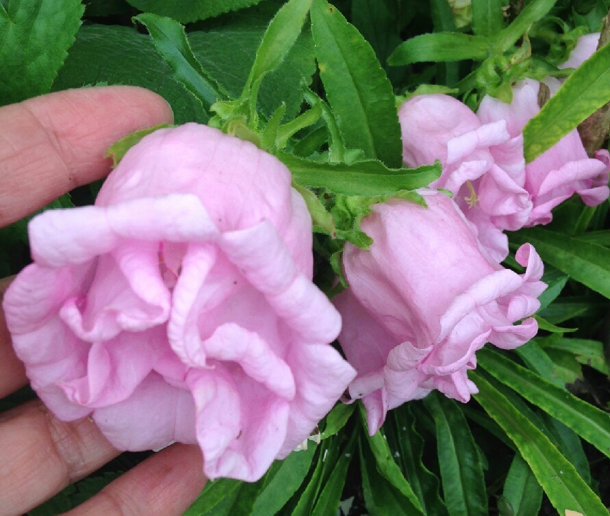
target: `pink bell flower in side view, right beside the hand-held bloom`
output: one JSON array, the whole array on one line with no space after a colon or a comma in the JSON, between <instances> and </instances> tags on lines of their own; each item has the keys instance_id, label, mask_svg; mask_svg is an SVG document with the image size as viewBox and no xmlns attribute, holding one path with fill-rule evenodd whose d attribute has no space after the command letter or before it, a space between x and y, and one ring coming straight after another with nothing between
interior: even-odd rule
<instances>
[{"instance_id":1,"label":"pink bell flower in side view, right beside the hand-held bloom","mask_svg":"<svg viewBox=\"0 0 610 516\"><path fill-rule=\"evenodd\" d=\"M438 389L467 402L467 372L485 342L521 346L537 332L529 318L546 285L542 261L524 244L517 274L487 259L470 224L448 196L420 192L428 207L391 200L361 222L370 252L346 244L350 287L337 296L339 342L356 368L352 398L362 398L375 433L387 410ZM517 321L525 319L521 324Z\"/></svg>"}]
</instances>

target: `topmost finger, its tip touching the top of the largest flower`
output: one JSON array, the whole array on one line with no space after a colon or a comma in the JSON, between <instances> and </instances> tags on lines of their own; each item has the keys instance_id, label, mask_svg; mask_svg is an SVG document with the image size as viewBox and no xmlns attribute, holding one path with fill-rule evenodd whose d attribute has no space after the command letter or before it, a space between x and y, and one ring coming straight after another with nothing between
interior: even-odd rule
<instances>
[{"instance_id":1,"label":"topmost finger, its tip touching the top of the largest flower","mask_svg":"<svg viewBox=\"0 0 610 516\"><path fill-rule=\"evenodd\" d=\"M110 170L123 136L173 120L157 94L132 86L66 90L0 108L0 227Z\"/></svg>"}]
</instances>

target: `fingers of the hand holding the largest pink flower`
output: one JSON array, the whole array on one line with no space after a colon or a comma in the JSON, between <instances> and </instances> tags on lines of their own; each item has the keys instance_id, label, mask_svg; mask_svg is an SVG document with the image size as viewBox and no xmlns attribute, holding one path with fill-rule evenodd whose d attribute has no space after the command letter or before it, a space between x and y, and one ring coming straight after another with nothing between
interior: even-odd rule
<instances>
[{"instance_id":1,"label":"fingers of the hand holding the largest pink flower","mask_svg":"<svg viewBox=\"0 0 610 516\"><path fill-rule=\"evenodd\" d=\"M157 94L131 86L69 90L0 108L0 227L110 172L105 150L171 123ZM10 279L0 280L0 295ZM27 384L0 310L0 398ZM87 418L62 422L40 400L0 414L0 516L21 515L120 452ZM179 516L205 485L201 451L175 444L114 480L70 516Z\"/></svg>"}]
</instances>

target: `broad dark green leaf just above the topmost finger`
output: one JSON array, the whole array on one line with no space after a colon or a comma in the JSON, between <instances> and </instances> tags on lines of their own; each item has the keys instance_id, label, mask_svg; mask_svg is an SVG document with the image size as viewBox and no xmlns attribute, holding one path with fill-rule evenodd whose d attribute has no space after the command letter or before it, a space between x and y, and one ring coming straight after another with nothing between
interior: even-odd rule
<instances>
[{"instance_id":1,"label":"broad dark green leaf just above the topmost finger","mask_svg":"<svg viewBox=\"0 0 610 516\"><path fill-rule=\"evenodd\" d=\"M174 112L175 123L205 122L201 103L171 76L150 38L130 27L84 25L60 70L53 90L80 88L105 81L142 86L160 94Z\"/></svg>"}]
</instances>

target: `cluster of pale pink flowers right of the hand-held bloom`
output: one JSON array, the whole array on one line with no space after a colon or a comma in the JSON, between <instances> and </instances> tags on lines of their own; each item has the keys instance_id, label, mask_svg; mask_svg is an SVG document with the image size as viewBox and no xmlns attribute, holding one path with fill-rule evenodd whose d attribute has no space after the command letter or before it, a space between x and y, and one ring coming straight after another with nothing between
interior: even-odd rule
<instances>
[{"instance_id":1,"label":"cluster of pale pink flowers right of the hand-held bloom","mask_svg":"<svg viewBox=\"0 0 610 516\"><path fill-rule=\"evenodd\" d=\"M577 45L567 66L591 55L592 39ZM560 86L544 82L551 94ZM505 231L547 224L573 194L590 206L609 196L610 155L589 158L576 129L525 163L522 130L539 112L539 88L520 81L510 104L485 96L476 114L444 94L414 96L399 109L405 164L440 159L442 175L431 187L453 200L422 190L427 208L374 205L361 222L370 252L346 244L349 288L334 302L340 344L358 373L349 394L363 400L370 433L388 410L433 389L467 402L477 391L468 379L477 350L516 348L535 335L542 261L525 244L516 254L523 274L500 266Z\"/></svg>"}]
</instances>

